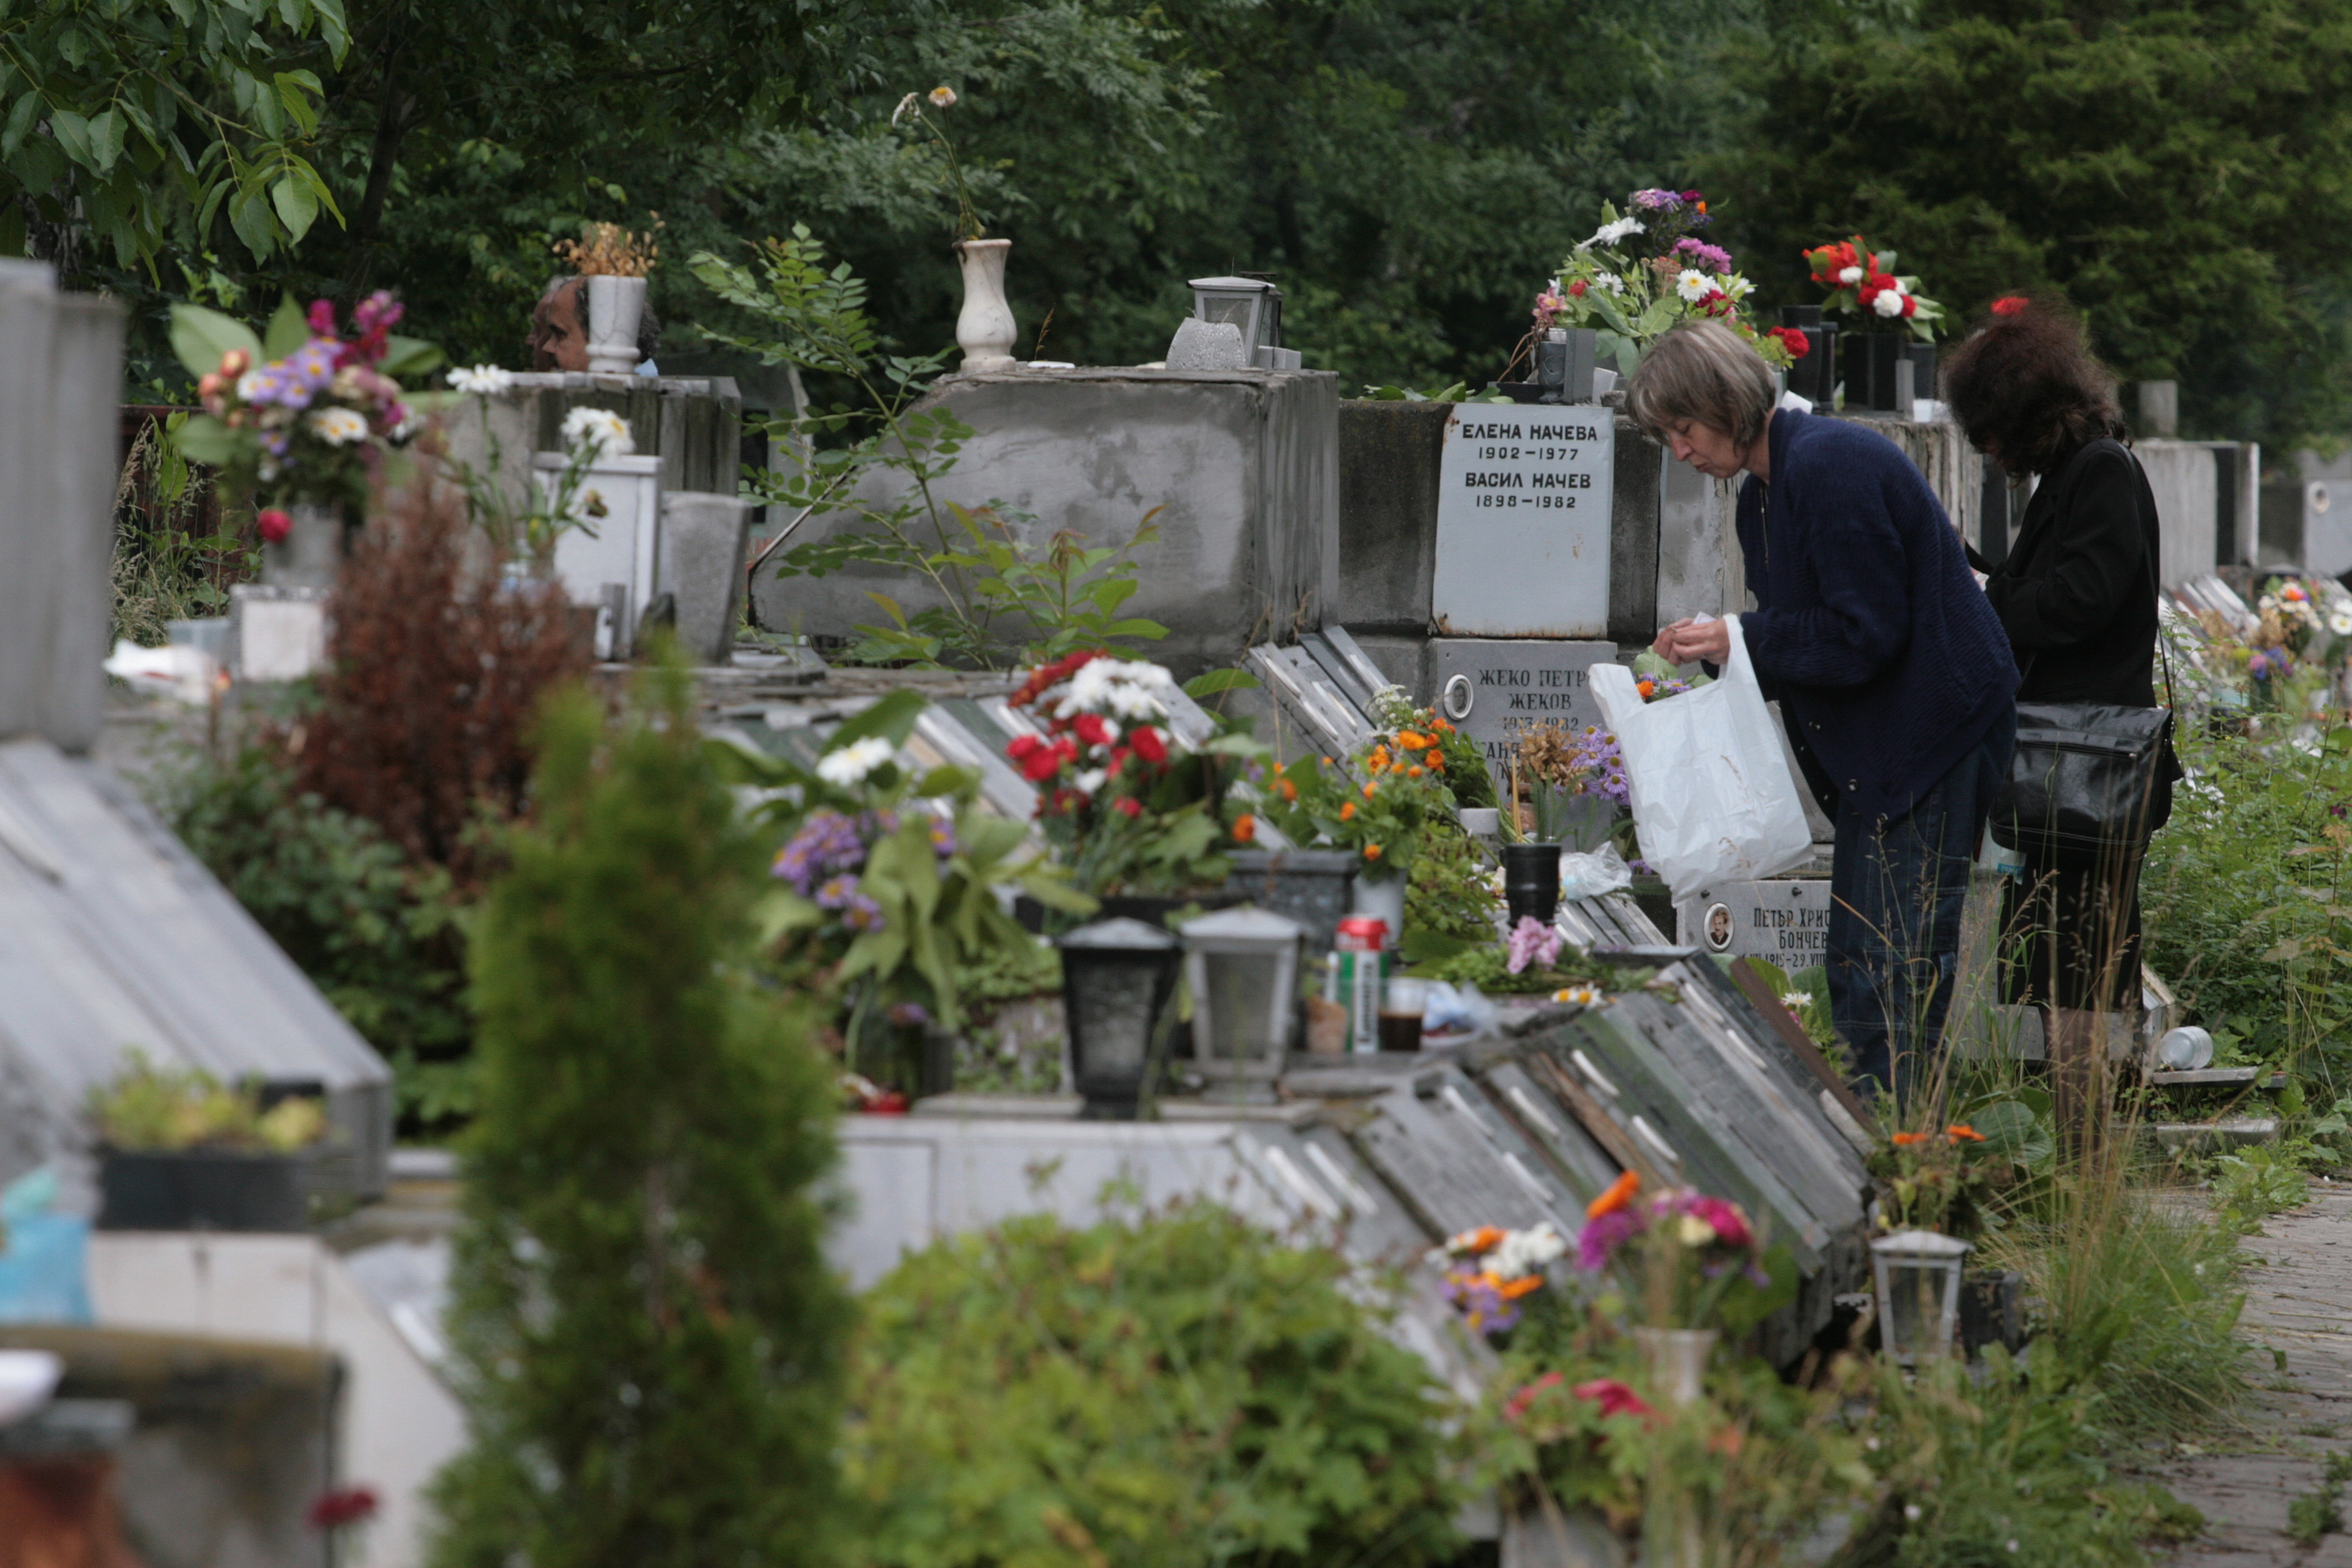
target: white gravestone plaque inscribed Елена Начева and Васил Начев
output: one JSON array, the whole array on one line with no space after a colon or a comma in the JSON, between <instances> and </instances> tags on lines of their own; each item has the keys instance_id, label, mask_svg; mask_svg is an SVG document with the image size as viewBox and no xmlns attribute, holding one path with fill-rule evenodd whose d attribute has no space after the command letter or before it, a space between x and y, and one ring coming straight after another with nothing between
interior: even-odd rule
<instances>
[{"instance_id":1,"label":"white gravestone plaque inscribed \u0415\u043b\u0435\u043d\u0430 \u041d\u0430\u0447\u0435\u0432\u0430 and \u0412\u0430\u0441\u0438\u043b \u041d\u0430\u0447\u0435\u0432","mask_svg":"<svg viewBox=\"0 0 2352 1568\"><path fill-rule=\"evenodd\" d=\"M1616 416L1456 404L1437 480L1439 632L1606 637Z\"/></svg>"}]
</instances>

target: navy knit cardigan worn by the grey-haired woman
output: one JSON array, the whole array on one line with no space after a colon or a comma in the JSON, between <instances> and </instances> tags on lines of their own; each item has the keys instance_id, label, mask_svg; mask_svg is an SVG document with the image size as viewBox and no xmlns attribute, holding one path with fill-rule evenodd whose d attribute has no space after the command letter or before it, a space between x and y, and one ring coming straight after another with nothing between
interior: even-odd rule
<instances>
[{"instance_id":1,"label":"navy knit cardigan worn by the grey-haired woman","mask_svg":"<svg viewBox=\"0 0 2352 1568\"><path fill-rule=\"evenodd\" d=\"M1738 534L1757 597L1740 632L1806 783L1865 820L1907 816L2018 689L1936 491L1884 435L1780 409Z\"/></svg>"}]
</instances>

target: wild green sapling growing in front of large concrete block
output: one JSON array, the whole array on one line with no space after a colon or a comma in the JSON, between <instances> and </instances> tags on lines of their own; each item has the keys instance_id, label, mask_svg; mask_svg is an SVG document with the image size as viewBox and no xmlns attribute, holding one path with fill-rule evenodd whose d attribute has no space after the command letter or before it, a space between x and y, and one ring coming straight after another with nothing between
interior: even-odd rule
<instances>
[{"instance_id":1,"label":"wild green sapling growing in front of large concrete block","mask_svg":"<svg viewBox=\"0 0 2352 1568\"><path fill-rule=\"evenodd\" d=\"M804 451L790 475L746 470L753 494L793 512L786 536L816 515L854 520L844 531L786 550L781 576L877 567L934 599L908 609L894 595L868 592L887 621L856 628L854 661L997 670L1167 635L1155 621L1122 614L1136 592L1134 552L1157 541L1150 524L1157 508L1127 543L1087 545L1058 531L1040 550L1021 538L1016 515L1002 503L964 508L938 494L971 440L971 425L946 404L917 404L946 353L891 353L866 310L866 282L849 263L826 268L823 247L804 226L795 226L790 240L757 244L753 266L710 252L689 266L720 299L771 331L767 339L715 331L715 341L760 355L764 364L837 376L858 393L856 404L828 414L769 421L769 440ZM844 444L818 447L816 437ZM875 498L877 489L889 496Z\"/></svg>"}]
</instances>

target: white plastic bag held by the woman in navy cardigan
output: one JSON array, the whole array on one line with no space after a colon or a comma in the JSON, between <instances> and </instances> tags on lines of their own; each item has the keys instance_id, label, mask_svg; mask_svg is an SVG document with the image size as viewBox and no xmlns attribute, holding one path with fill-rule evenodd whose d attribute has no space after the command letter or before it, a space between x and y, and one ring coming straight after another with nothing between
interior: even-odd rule
<instances>
[{"instance_id":1,"label":"white plastic bag held by the woman in navy cardigan","mask_svg":"<svg viewBox=\"0 0 2352 1568\"><path fill-rule=\"evenodd\" d=\"M1592 698L1625 755L1642 858L1675 900L1717 882L1771 877L1813 853L1797 780L1740 618L1724 616L1731 656L1712 684L1644 703L1625 665L1592 665Z\"/></svg>"}]
</instances>

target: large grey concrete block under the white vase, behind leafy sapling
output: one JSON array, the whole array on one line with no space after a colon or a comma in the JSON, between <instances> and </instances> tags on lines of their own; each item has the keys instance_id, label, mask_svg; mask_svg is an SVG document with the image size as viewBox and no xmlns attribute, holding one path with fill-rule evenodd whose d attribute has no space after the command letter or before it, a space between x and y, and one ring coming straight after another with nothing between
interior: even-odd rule
<instances>
[{"instance_id":1,"label":"large grey concrete block under the white vase, behind leafy sapling","mask_svg":"<svg viewBox=\"0 0 2352 1568\"><path fill-rule=\"evenodd\" d=\"M1155 658L1181 677L1319 625L1338 597L1329 371L985 371L943 378L917 407L953 409L976 433L934 494L1000 505L1030 548L1061 531L1120 543L1150 517L1160 541L1138 555L1124 614L1169 628ZM882 503L896 482L870 475L858 498ZM858 527L851 512L811 517L795 543ZM762 625L840 637L880 618L868 590L908 611L936 602L880 569L762 574L753 599Z\"/></svg>"}]
</instances>

